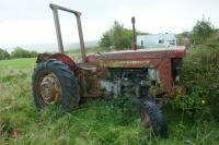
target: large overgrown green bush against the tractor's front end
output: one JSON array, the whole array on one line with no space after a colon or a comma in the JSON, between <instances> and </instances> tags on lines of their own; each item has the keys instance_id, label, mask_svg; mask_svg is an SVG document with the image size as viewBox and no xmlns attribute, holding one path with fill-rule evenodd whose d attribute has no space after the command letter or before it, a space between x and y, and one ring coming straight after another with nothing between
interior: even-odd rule
<instances>
[{"instance_id":1,"label":"large overgrown green bush against the tractor's front end","mask_svg":"<svg viewBox=\"0 0 219 145\"><path fill-rule=\"evenodd\" d=\"M175 107L184 111L206 112L219 120L219 43L189 48L181 70L187 95L175 98Z\"/></svg>"}]
</instances>

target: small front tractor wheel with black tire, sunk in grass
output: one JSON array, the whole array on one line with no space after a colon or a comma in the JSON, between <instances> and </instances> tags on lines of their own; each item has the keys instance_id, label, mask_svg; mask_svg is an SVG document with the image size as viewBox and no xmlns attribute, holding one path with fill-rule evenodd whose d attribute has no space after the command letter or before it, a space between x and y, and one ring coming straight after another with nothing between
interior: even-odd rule
<instances>
[{"instance_id":1,"label":"small front tractor wheel with black tire, sunk in grass","mask_svg":"<svg viewBox=\"0 0 219 145\"><path fill-rule=\"evenodd\" d=\"M153 101L141 101L141 122L149 128L155 136L168 137L168 124L160 108Z\"/></svg>"}]
</instances>

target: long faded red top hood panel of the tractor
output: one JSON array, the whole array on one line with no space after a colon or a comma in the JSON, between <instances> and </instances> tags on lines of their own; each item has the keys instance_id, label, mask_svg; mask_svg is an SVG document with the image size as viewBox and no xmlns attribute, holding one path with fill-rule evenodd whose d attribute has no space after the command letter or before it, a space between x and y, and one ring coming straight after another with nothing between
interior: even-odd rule
<instances>
[{"instance_id":1,"label":"long faded red top hood panel of the tractor","mask_svg":"<svg viewBox=\"0 0 219 145\"><path fill-rule=\"evenodd\" d=\"M151 48L137 50L123 50L104 52L97 56L88 56L87 63L101 67L139 67L150 62L159 63L165 58L183 58L185 56L185 47L178 46L173 48Z\"/></svg>"}]
</instances>

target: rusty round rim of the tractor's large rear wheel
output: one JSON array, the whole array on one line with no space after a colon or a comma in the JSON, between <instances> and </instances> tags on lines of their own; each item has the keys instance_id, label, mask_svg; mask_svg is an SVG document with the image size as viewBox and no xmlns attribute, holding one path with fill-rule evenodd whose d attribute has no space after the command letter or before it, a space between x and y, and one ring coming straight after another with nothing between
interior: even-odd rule
<instances>
[{"instance_id":1,"label":"rusty round rim of the tractor's large rear wheel","mask_svg":"<svg viewBox=\"0 0 219 145\"><path fill-rule=\"evenodd\" d=\"M61 86L54 73L49 73L42 78L39 90L45 105L60 104Z\"/></svg>"}]
</instances>

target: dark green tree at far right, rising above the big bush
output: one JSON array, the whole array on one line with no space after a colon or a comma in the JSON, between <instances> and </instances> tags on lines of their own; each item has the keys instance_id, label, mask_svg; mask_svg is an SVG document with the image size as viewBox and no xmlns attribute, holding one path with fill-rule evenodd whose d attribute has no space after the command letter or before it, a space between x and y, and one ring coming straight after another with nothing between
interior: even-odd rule
<instances>
[{"instance_id":1,"label":"dark green tree at far right, rising above the big bush","mask_svg":"<svg viewBox=\"0 0 219 145\"><path fill-rule=\"evenodd\" d=\"M210 21L206 21L205 19L197 21L196 25L193 27L192 40L195 44L204 44L214 32L215 28Z\"/></svg>"}]
</instances>

